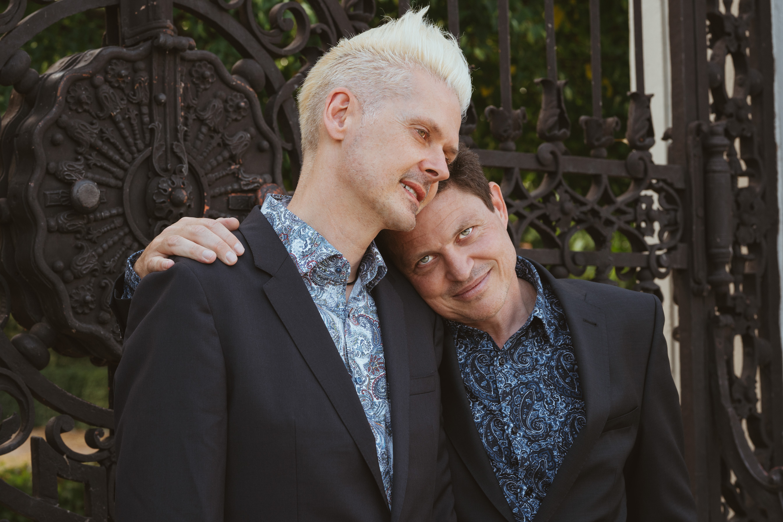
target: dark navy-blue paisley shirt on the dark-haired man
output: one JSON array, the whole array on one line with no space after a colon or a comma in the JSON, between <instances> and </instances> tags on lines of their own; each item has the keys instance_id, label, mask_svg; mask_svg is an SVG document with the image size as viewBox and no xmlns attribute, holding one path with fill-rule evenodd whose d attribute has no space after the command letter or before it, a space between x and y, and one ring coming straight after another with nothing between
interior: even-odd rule
<instances>
[{"instance_id":1,"label":"dark navy-blue paisley shirt on the dark-haired man","mask_svg":"<svg viewBox=\"0 0 783 522\"><path fill-rule=\"evenodd\" d=\"M536 288L536 305L502 348L482 330L449 326L489 462L514 519L529 522L586 418L560 301L522 257L517 275Z\"/></svg>"}]
</instances>

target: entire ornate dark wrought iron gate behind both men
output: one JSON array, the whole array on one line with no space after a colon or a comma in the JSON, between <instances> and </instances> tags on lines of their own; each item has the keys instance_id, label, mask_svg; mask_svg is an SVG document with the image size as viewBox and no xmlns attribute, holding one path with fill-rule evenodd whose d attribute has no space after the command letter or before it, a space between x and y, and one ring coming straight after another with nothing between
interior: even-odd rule
<instances>
[{"instance_id":1,"label":"entire ornate dark wrought iron gate behind both men","mask_svg":"<svg viewBox=\"0 0 783 522\"><path fill-rule=\"evenodd\" d=\"M669 0L667 165L648 152L655 133L644 92L641 2L632 1L637 91L630 93L625 160L606 159L622 122L601 109L598 0L590 0L593 113L579 118L590 157L569 154L563 143L571 121L557 74L554 0L543 2L542 143L536 153L515 151L528 117L511 104L509 6L498 0L501 106L486 107L485 117L500 146L478 153L485 166L503 169L514 241L521 244L528 229L542 240L543 248L521 254L557 277L590 266L594 280L612 283L614 269L637 290L658 293L655 279L673 273L687 461L700 520L783 520L770 0L740 0L738 16L731 2L721 12L717 0ZM183 215L241 217L265 193L284 190L284 154L295 185L294 90L324 50L366 30L375 12L373 0L307 3L276 5L271 30L259 26L251 0L57 0L23 20L26 0L11 0L0 14L0 85L14 87L0 129L0 315L5 325L13 311L28 329L11 342L0 336L0 390L20 409L0 424L0 454L31 437L33 397L60 413L45 438L31 438L33 494L0 481L0 502L10 509L34 520L113 519L112 412L56 387L40 370L52 348L108 365L111 380L121 342L108 299L124 258ZM457 0L447 5L449 31L459 34ZM240 52L230 73L177 34L175 8L207 21ZM105 10L104 46L44 74L31 69L21 45L88 9ZM290 78L274 61L287 56L303 64ZM727 56L736 71L731 96ZM477 120L471 104L460 129L469 146ZM526 181L527 172L539 181ZM580 177L588 190L569 181ZM626 180L621 193L617 179ZM577 233L588 234L595 249L572 250ZM612 251L617 234L631 251ZM75 452L63 441L74 419L94 427L86 442L95 452ZM57 477L85 484L85 516L58 506Z\"/></svg>"}]
</instances>

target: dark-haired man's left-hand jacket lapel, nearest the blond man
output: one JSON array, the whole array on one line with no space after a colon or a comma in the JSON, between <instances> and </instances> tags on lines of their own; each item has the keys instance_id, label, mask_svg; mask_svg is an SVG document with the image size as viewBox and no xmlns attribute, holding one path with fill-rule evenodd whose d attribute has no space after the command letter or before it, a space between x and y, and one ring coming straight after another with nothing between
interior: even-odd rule
<instances>
[{"instance_id":1,"label":"dark-haired man's left-hand jacket lapel, nearest the blond man","mask_svg":"<svg viewBox=\"0 0 783 522\"><path fill-rule=\"evenodd\" d=\"M514 514L508 506L495 470L489 463L481 437L473 421L471 405L467 400L465 386L460 373L460 363L456 360L454 337L448 326L443 333L443 359L440 367L443 405L443 429L449 440L460 454L462 461L470 470L478 485L490 502L506 517L514 522Z\"/></svg>"}]
</instances>

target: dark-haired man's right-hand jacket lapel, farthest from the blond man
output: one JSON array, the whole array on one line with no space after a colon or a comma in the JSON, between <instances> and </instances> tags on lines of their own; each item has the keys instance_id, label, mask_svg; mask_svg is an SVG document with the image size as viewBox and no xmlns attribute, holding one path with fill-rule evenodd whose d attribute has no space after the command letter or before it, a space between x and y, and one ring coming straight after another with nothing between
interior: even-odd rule
<instances>
[{"instance_id":1,"label":"dark-haired man's right-hand jacket lapel, farthest from the blond man","mask_svg":"<svg viewBox=\"0 0 783 522\"><path fill-rule=\"evenodd\" d=\"M550 284L565 311L587 416L585 427L565 455L560 470L557 470L547 496L534 518L534 522L547 522L574 484L606 423L610 405L608 339L606 318L601 308L588 303L584 293L576 292L564 281L554 279L538 263L533 264L536 265L541 279Z\"/></svg>"}]
</instances>

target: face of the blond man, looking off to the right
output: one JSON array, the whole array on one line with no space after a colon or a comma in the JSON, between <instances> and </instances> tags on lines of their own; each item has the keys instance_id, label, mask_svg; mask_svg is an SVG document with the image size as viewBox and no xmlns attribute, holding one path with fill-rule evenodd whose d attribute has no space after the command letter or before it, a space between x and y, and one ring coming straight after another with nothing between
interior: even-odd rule
<instances>
[{"instance_id":1,"label":"face of the blond man, looking off to the right","mask_svg":"<svg viewBox=\"0 0 783 522\"><path fill-rule=\"evenodd\" d=\"M459 146L456 94L423 72L413 74L413 85L410 96L382 103L344 142L344 181L361 190L384 229L413 229Z\"/></svg>"}]
</instances>

